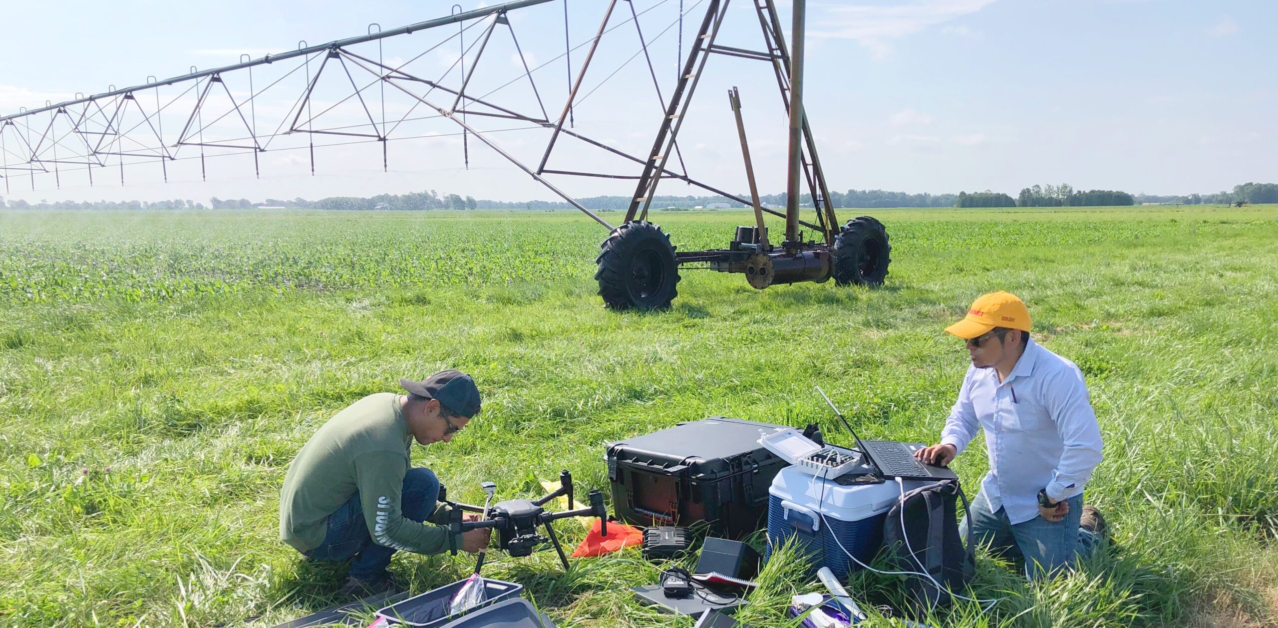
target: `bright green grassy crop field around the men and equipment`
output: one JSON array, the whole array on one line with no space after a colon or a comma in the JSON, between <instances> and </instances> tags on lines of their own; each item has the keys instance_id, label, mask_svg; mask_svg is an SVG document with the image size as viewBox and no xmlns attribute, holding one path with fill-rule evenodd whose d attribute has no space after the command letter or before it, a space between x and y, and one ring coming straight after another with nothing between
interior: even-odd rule
<instances>
[{"instance_id":1,"label":"bright green grassy crop field around the men and equipment","mask_svg":"<svg viewBox=\"0 0 1278 628\"><path fill-rule=\"evenodd\" d=\"M858 215L846 211L845 215ZM1105 437L1088 501L1116 547L1029 583L980 554L937 625L1278 625L1278 207L875 210L882 289L749 288L685 272L675 307L594 294L606 235L550 212L0 212L0 624L268 625L320 609L344 568L277 540L293 454L400 376L472 372L484 412L415 448L450 494L604 486L603 444L709 414L934 441L966 368L942 334L1007 289L1084 371ZM619 214L606 214L620 220ZM680 248L744 214L657 212ZM974 490L974 445L955 463ZM575 545L579 528L561 526ZM562 574L489 555L561 627L681 627L627 587L627 551ZM399 554L418 591L469 559ZM815 587L787 553L743 611L786 625ZM850 590L900 602L861 573ZM877 625L888 625L887 620Z\"/></svg>"}]
</instances>

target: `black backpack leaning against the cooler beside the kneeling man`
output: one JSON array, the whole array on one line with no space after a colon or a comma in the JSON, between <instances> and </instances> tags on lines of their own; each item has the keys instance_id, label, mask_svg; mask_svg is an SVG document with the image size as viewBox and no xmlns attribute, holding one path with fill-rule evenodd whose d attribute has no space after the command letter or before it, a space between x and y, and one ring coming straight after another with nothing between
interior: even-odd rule
<instances>
[{"instance_id":1,"label":"black backpack leaning against the cooler beside the kneeling man","mask_svg":"<svg viewBox=\"0 0 1278 628\"><path fill-rule=\"evenodd\" d=\"M932 579L909 577L907 587L919 606L918 611L948 606L950 591L967 588L976 570L975 542L964 547L958 536L955 498L962 498L966 510L967 496L957 480L920 486L906 491L883 522L883 544L896 556L900 569L932 576ZM967 538L971 538L970 521L967 528Z\"/></svg>"}]
</instances>

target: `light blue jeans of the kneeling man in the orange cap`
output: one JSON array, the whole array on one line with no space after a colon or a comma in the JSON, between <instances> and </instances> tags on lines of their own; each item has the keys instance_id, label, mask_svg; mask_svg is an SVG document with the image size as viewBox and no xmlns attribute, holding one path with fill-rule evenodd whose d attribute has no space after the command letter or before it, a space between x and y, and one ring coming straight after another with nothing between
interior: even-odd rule
<instances>
[{"instance_id":1,"label":"light blue jeans of the kneeling man in the orange cap","mask_svg":"<svg viewBox=\"0 0 1278 628\"><path fill-rule=\"evenodd\" d=\"M958 523L958 533L966 542L970 519L976 544L988 544L997 554L1011 559L1024 559L1025 576L1040 578L1074 561L1076 556L1091 553L1095 545L1091 531L1079 527L1082 494L1065 501L1070 504L1070 513L1058 522L1053 523L1039 515L1013 526L1002 506L997 512L990 510L985 491L980 491Z\"/></svg>"}]
</instances>

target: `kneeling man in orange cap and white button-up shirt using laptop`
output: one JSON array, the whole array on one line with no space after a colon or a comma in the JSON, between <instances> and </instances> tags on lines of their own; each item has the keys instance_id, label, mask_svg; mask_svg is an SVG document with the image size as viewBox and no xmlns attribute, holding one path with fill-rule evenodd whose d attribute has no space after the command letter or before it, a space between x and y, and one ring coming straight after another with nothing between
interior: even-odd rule
<instances>
[{"instance_id":1,"label":"kneeling man in orange cap and white button-up shirt using laptop","mask_svg":"<svg viewBox=\"0 0 1278 628\"><path fill-rule=\"evenodd\" d=\"M980 297L946 327L967 341L971 367L941 444L916 455L948 464L984 428L989 473L966 518L976 542L1022 558L1038 577L1090 550L1104 519L1082 505L1082 487L1102 460L1082 372L1034 343L1029 330L1029 310L1006 292ZM966 533L966 523L958 530Z\"/></svg>"}]
</instances>

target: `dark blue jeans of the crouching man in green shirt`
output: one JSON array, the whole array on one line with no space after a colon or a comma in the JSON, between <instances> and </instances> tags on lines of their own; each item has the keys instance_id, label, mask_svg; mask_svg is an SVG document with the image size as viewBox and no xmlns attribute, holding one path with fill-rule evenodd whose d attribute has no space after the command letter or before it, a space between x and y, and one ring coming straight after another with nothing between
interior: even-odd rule
<instances>
[{"instance_id":1,"label":"dark blue jeans of the crouching man in green shirt","mask_svg":"<svg viewBox=\"0 0 1278 628\"><path fill-rule=\"evenodd\" d=\"M435 513L440 496L440 478L431 469L417 467L404 475L404 492L400 512L418 523ZM345 504L328 515L328 531L323 544L307 551L312 560L350 560L350 577L362 581L385 578L395 549L373 542L364 522L364 508L355 491Z\"/></svg>"}]
</instances>

